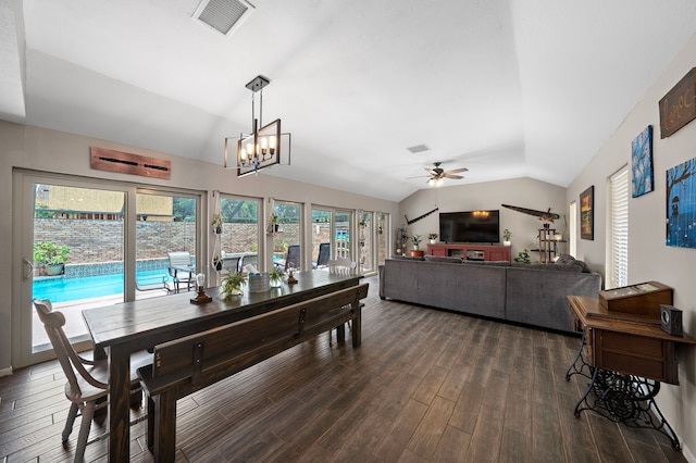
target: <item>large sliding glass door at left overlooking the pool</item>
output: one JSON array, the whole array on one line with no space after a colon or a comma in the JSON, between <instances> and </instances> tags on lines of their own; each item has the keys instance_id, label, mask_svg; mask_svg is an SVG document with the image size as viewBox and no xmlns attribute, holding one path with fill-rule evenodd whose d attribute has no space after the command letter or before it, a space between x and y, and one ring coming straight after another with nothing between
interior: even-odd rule
<instances>
[{"instance_id":1,"label":"large sliding glass door at left overlooking the pool","mask_svg":"<svg viewBox=\"0 0 696 463\"><path fill-rule=\"evenodd\" d=\"M200 249L200 193L23 171L13 189L17 367L52 356L34 298L50 300L71 341L89 348L83 310L166 296L167 251L185 249L195 263Z\"/></svg>"}]
</instances>

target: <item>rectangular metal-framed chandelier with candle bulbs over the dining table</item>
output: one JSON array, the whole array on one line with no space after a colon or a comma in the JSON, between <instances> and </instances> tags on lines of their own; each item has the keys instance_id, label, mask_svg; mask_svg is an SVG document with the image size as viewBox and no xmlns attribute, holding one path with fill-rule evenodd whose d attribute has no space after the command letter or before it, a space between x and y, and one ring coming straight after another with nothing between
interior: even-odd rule
<instances>
[{"instance_id":1,"label":"rectangular metal-framed chandelier with candle bulbs over the dining table","mask_svg":"<svg viewBox=\"0 0 696 463\"><path fill-rule=\"evenodd\" d=\"M237 176L257 174L261 168L281 163L281 152L287 151L290 163L290 134L281 133L281 120L263 125L263 87L271 80L262 75L253 78L246 87L251 90L251 134L225 138L225 168L228 167L229 151L237 145ZM259 118L256 117L256 93L259 93ZM260 128L259 128L260 126ZM285 141L284 141L285 139Z\"/></svg>"}]
</instances>

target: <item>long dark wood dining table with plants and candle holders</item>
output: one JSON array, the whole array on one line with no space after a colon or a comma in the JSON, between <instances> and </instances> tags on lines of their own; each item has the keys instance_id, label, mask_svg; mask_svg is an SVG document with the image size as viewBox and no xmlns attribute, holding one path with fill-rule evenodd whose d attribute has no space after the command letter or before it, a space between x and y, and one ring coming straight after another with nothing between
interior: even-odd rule
<instances>
[{"instance_id":1,"label":"long dark wood dining table with plants and candle holders","mask_svg":"<svg viewBox=\"0 0 696 463\"><path fill-rule=\"evenodd\" d=\"M298 283L264 292L224 298L209 288L212 301L190 303L191 293L164 296L83 311L96 353L109 358L109 461L129 459L129 397L133 352L201 333L250 316L357 286L357 275L310 271L295 273Z\"/></svg>"}]
</instances>

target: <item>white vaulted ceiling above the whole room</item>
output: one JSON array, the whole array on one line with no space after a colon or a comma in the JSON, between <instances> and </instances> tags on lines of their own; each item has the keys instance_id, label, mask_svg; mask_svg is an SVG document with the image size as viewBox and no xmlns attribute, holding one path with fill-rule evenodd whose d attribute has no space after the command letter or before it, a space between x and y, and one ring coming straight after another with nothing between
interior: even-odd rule
<instances>
[{"instance_id":1,"label":"white vaulted ceiling above the whole room","mask_svg":"<svg viewBox=\"0 0 696 463\"><path fill-rule=\"evenodd\" d=\"M199 0L0 0L0 118L222 168L262 74L293 134L268 175L395 201L435 161L568 186L696 33L693 0L252 3L225 37Z\"/></svg>"}]
</instances>

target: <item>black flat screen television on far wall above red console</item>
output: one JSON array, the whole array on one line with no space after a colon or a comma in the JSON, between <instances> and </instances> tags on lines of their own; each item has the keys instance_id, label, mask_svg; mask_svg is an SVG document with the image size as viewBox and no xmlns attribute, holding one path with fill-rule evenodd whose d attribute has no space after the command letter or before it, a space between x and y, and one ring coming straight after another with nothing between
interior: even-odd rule
<instances>
[{"instance_id":1,"label":"black flat screen television on far wall above red console","mask_svg":"<svg viewBox=\"0 0 696 463\"><path fill-rule=\"evenodd\" d=\"M444 242L499 242L499 212L440 212L439 239Z\"/></svg>"}]
</instances>

